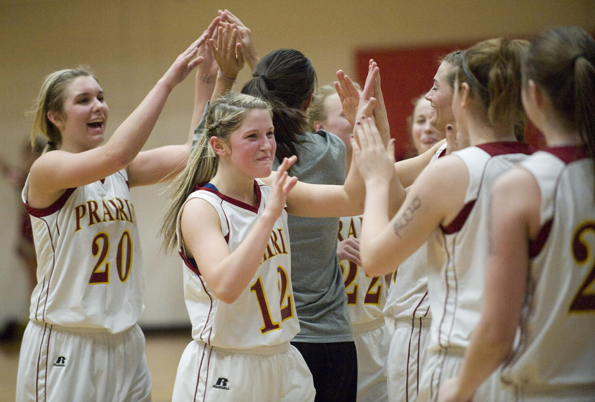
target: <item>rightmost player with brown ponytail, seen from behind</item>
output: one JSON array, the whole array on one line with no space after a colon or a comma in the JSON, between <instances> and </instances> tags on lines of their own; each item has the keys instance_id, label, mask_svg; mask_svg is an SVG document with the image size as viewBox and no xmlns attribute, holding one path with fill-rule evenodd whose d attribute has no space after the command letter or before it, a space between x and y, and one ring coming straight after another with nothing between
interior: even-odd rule
<instances>
[{"instance_id":1,"label":"rightmost player with brown ponytail, seen from behind","mask_svg":"<svg viewBox=\"0 0 595 402\"><path fill-rule=\"evenodd\" d=\"M595 400L594 66L578 27L531 41L522 101L548 148L494 183L481 319L443 401L472 400L502 362L516 400Z\"/></svg>"}]
</instances>

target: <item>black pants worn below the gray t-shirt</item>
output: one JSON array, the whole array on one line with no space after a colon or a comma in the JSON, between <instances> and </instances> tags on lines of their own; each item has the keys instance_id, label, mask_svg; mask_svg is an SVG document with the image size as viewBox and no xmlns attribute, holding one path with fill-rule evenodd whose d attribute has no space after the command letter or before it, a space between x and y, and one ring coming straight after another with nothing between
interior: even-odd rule
<instances>
[{"instance_id":1,"label":"black pants worn below the gray t-shirt","mask_svg":"<svg viewBox=\"0 0 595 402\"><path fill-rule=\"evenodd\" d=\"M355 402L358 356L354 342L292 342L314 378L315 402Z\"/></svg>"}]
</instances>

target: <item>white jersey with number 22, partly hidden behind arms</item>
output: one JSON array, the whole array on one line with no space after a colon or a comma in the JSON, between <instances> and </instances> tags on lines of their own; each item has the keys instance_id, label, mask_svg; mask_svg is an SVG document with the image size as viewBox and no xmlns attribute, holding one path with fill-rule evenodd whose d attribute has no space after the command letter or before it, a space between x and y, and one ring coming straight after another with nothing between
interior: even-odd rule
<instances>
[{"instance_id":1,"label":"white jersey with number 22, partly hidden behind arms","mask_svg":"<svg viewBox=\"0 0 595 402\"><path fill-rule=\"evenodd\" d=\"M358 215L340 218L339 241L348 237L359 238L363 217ZM364 268L349 260L341 260L339 263L345 281L351 324L365 324L383 316L387 288L384 277L369 277Z\"/></svg>"}]
</instances>

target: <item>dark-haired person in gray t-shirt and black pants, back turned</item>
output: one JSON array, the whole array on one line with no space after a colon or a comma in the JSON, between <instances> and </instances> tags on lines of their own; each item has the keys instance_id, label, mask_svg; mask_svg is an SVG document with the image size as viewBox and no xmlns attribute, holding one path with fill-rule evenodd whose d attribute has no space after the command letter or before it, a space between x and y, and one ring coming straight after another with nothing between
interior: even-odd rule
<instances>
[{"instance_id":1,"label":"dark-haired person in gray t-shirt and black pants, back turned","mask_svg":"<svg viewBox=\"0 0 595 402\"><path fill-rule=\"evenodd\" d=\"M345 182L345 145L334 134L308 131L306 110L316 84L311 62L293 49L265 55L242 93L273 105L277 152L273 168L297 155L290 169L300 181ZM314 377L317 401L355 401L357 356L345 286L337 259L338 218L289 216L292 281L300 332L292 344Z\"/></svg>"}]
</instances>

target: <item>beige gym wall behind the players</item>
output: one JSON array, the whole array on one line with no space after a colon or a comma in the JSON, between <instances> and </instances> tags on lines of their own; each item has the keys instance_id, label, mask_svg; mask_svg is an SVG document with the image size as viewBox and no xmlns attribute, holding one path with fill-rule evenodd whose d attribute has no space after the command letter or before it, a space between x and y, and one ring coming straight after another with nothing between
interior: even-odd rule
<instances>
[{"instance_id":1,"label":"beige gym wall behind the players","mask_svg":"<svg viewBox=\"0 0 595 402\"><path fill-rule=\"evenodd\" d=\"M574 24L595 32L593 0L506 1L239 1L190 0L1 0L0 154L18 162L29 134L32 108L43 77L89 64L106 92L108 135L135 108L218 7L227 7L253 32L261 55L296 48L311 58L321 84L338 68L353 73L355 49L433 45L493 36L531 37L553 26ZM386 68L386 66L380 66ZM240 74L239 87L249 76ZM431 77L428 77L428 85ZM237 88L237 87L236 87ZM193 101L193 76L171 94L146 148L184 142ZM146 312L142 323L184 325L181 263L159 250L163 186L133 189L146 265ZM14 255L20 206L2 180L0 320L24 315L29 294Z\"/></svg>"}]
</instances>

